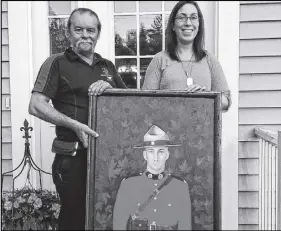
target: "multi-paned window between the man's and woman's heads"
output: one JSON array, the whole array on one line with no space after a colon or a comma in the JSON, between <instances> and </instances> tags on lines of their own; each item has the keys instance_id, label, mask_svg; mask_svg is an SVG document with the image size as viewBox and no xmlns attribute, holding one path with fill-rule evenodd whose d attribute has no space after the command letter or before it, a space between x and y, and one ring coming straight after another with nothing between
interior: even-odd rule
<instances>
[{"instance_id":1,"label":"multi-paned window between the man's and woman's heads","mask_svg":"<svg viewBox=\"0 0 281 231\"><path fill-rule=\"evenodd\" d=\"M114 2L115 66L129 88L142 87L153 56L165 49L165 28L176 3Z\"/></svg>"}]
</instances>

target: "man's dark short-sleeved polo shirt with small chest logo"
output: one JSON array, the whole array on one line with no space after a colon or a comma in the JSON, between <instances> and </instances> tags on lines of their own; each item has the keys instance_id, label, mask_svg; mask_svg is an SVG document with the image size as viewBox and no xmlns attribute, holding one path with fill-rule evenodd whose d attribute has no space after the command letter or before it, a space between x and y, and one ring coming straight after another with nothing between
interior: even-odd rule
<instances>
[{"instance_id":1,"label":"man's dark short-sleeved polo shirt with small chest logo","mask_svg":"<svg viewBox=\"0 0 281 231\"><path fill-rule=\"evenodd\" d=\"M104 80L113 88L126 88L114 64L94 53L92 65L81 59L72 48L52 55L41 66L32 92L40 92L52 99L54 108L66 116L88 125L89 86ZM79 140L76 133L56 126L61 140Z\"/></svg>"}]
</instances>

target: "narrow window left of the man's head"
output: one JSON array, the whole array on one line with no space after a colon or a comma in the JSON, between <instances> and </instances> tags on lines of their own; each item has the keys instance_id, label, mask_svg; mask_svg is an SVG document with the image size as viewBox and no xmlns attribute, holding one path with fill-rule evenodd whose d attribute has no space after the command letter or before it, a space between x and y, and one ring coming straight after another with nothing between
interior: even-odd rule
<instances>
[{"instance_id":1,"label":"narrow window left of the man's head","mask_svg":"<svg viewBox=\"0 0 281 231\"><path fill-rule=\"evenodd\" d=\"M77 1L48 1L50 53L64 52L70 45L66 38L67 20L71 12L77 8Z\"/></svg>"}]
</instances>

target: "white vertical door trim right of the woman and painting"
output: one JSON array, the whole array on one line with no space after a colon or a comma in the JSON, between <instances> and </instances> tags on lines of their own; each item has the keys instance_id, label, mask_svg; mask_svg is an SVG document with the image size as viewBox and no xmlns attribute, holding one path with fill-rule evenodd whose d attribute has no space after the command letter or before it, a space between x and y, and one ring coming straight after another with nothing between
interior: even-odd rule
<instances>
[{"instance_id":1,"label":"white vertical door trim right of the woman and painting","mask_svg":"<svg viewBox=\"0 0 281 231\"><path fill-rule=\"evenodd\" d=\"M217 7L217 55L232 94L222 115L222 230L238 230L239 1L218 1Z\"/></svg>"}]
</instances>

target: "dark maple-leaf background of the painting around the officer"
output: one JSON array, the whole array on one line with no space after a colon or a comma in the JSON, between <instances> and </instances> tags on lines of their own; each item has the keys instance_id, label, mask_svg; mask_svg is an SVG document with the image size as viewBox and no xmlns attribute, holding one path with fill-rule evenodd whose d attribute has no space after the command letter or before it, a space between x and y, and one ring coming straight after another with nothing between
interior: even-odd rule
<instances>
[{"instance_id":1,"label":"dark maple-leaf background of the painting around the officer","mask_svg":"<svg viewBox=\"0 0 281 231\"><path fill-rule=\"evenodd\" d=\"M167 171L187 181L192 229L214 228L214 99L187 97L100 96L92 148L95 163L95 229L112 229L115 198L122 179L143 172L141 144L155 124L181 147L170 147ZM95 123L94 121L92 123ZM94 125L94 124L93 124ZM176 190L176 189L175 189ZM93 206L93 205L89 205Z\"/></svg>"}]
</instances>

